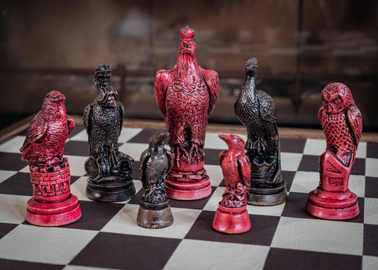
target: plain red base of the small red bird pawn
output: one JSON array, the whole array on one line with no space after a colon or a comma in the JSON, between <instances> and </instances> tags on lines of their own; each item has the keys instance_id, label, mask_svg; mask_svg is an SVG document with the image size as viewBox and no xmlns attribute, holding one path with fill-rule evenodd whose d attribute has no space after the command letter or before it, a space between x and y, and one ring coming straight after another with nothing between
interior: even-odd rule
<instances>
[{"instance_id":1,"label":"plain red base of the small red bird pawn","mask_svg":"<svg viewBox=\"0 0 378 270\"><path fill-rule=\"evenodd\" d=\"M243 233L250 230L250 216L247 206L228 208L219 203L213 220L214 230L225 233Z\"/></svg>"}]
</instances>

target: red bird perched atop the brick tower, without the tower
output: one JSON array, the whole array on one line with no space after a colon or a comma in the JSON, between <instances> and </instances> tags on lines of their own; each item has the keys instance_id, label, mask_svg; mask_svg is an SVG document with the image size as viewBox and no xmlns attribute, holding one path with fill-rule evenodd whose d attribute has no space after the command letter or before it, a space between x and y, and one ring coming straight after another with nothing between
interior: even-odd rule
<instances>
[{"instance_id":1,"label":"red bird perched atop the brick tower, without the tower","mask_svg":"<svg viewBox=\"0 0 378 270\"><path fill-rule=\"evenodd\" d=\"M30 123L28 134L20 149L21 159L29 164L52 167L63 164L63 149L74 120L66 114L65 96L50 91L42 109Z\"/></svg>"}]
</instances>

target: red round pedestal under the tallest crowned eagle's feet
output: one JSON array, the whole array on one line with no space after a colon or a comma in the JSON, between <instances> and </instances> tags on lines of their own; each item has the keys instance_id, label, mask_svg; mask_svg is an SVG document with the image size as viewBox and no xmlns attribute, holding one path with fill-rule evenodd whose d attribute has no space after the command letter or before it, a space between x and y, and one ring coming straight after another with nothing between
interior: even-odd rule
<instances>
[{"instance_id":1,"label":"red round pedestal under the tallest crowned eagle's feet","mask_svg":"<svg viewBox=\"0 0 378 270\"><path fill-rule=\"evenodd\" d=\"M172 152L172 155L173 152ZM211 194L210 178L204 169L204 163L187 164L187 159L180 159L180 167L176 162L165 177L165 189L169 198L191 201L206 198Z\"/></svg>"}]
</instances>

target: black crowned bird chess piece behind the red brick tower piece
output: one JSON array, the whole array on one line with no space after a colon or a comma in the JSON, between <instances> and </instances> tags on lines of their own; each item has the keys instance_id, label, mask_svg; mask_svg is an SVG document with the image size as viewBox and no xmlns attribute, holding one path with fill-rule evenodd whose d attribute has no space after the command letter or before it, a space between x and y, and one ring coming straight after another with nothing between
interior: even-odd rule
<instances>
[{"instance_id":1,"label":"black crowned bird chess piece behind the red brick tower piece","mask_svg":"<svg viewBox=\"0 0 378 270\"><path fill-rule=\"evenodd\" d=\"M83 114L91 155L84 165L89 174L86 194L91 200L104 202L124 201L135 195L134 159L118 151L124 109L110 77L111 67L99 64L94 74L99 94Z\"/></svg>"}]
</instances>

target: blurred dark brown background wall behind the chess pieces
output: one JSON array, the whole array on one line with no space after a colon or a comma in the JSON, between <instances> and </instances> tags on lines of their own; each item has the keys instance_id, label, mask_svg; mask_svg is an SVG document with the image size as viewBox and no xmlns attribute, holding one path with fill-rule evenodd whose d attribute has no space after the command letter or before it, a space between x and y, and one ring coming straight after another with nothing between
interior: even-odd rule
<instances>
[{"instance_id":1,"label":"blurred dark brown background wall behind the chess pieces","mask_svg":"<svg viewBox=\"0 0 378 270\"><path fill-rule=\"evenodd\" d=\"M233 100L245 62L259 62L257 89L277 105L282 127L321 128L321 90L348 85L364 131L378 132L378 1L1 1L1 127L37 113L45 94L65 94L82 115L96 98L98 64L110 64L127 118L162 119L158 69L177 60L180 29L195 30L201 67L220 77L209 122L238 124Z\"/></svg>"}]
</instances>

